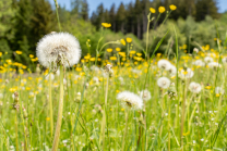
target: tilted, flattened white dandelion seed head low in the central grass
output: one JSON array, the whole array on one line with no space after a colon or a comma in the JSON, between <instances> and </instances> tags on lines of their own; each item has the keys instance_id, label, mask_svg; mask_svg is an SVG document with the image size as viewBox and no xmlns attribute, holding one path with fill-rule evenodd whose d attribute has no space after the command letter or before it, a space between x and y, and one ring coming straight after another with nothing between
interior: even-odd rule
<instances>
[{"instance_id":1,"label":"tilted, flattened white dandelion seed head low in the central grass","mask_svg":"<svg viewBox=\"0 0 227 151\"><path fill-rule=\"evenodd\" d=\"M117 95L117 100L119 100L123 106L130 109L141 110L143 108L143 100L135 93L130 91L122 91Z\"/></svg>"}]
</instances>

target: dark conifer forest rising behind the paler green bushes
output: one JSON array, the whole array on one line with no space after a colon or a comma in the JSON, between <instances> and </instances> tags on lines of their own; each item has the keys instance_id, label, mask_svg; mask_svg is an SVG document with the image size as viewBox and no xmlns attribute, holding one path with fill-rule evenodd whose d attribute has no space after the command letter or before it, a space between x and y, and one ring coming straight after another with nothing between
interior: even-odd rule
<instances>
[{"instance_id":1,"label":"dark conifer forest rising behind the paler green bushes","mask_svg":"<svg viewBox=\"0 0 227 151\"><path fill-rule=\"evenodd\" d=\"M175 21L178 18L186 20L189 15L198 22L204 21L206 15L213 18L220 16L216 0L135 0L135 2L130 2L129 4L121 2L118 8L113 3L110 10L105 9L103 3L100 3L97 10L93 12L91 21L96 29L100 28L100 23L107 22L111 23L112 32L121 32L123 34L132 33L139 39L142 39L143 34L147 30L147 14L150 8L156 10L154 17L157 18L158 8L163 5L169 10L170 4L175 4L178 8L169 16L169 18ZM156 25L158 26L164 18L165 15L163 14ZM154 26L154 22L152 24Z\"/></svg>"}]
</instances>

